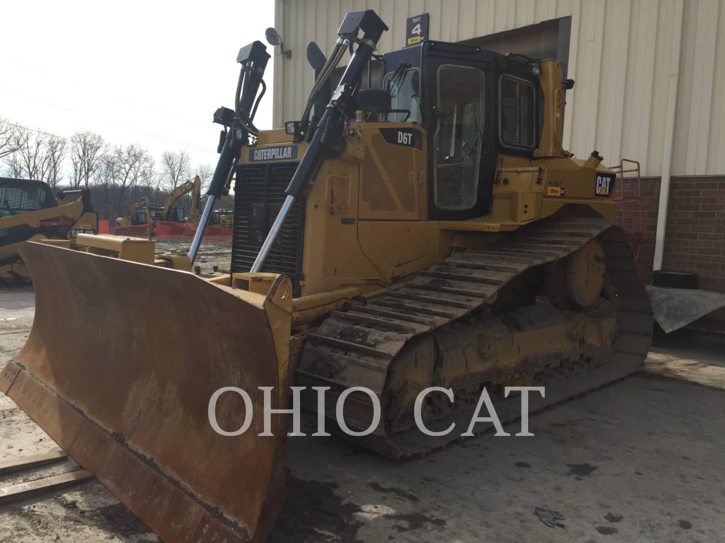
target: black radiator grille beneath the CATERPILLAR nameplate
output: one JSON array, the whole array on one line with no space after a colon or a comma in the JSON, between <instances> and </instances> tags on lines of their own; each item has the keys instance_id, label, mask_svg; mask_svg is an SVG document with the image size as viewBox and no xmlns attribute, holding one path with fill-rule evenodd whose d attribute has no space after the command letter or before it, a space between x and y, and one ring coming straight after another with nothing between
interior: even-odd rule
<instances>
[{"instance_id":1,"label":"black radiator grille beneath the CATERPILLAR nameplate","mask_svg":"<svg viewBox=\"0 0 725 543\"><path fill-rule=\"evenodd\" d=\"M241 164L234 186L234 230L231 271L249 271L262 243L284 203L284 193L297 162ZM299 296L302 279L302 234L305 228L304 198L292 206L263 271L286 274Z\"/></svg>"}]
</instances>

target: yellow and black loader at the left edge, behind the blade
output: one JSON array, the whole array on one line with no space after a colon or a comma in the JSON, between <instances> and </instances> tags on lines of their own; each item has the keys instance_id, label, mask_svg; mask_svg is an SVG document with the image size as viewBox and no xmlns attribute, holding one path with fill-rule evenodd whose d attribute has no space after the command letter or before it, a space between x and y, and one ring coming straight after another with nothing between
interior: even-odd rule
<instances>
[{"instance_id":1,"label":"yellow and black loader at the left edge, behind the blade","mask_svg":"<svg viewBox=\"0 0 725 543\"><path fill-rule=\"evenodd\" d=\"M77 195L75 201L66 198ZM87 189L59 190L46 182L0 178L0 281L30 282L17 250L27 240L75 239L98 232L98 216Z\"/></svg>"}]
</instances>

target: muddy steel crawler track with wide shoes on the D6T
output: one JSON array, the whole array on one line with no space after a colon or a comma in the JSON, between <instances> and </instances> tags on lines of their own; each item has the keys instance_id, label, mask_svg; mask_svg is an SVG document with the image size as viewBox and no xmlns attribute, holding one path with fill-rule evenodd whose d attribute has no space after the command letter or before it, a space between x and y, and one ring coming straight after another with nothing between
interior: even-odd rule
<instances>
[{"instance_id":1,"label":"muddy steel crawler track with wide shoes on the D6T","mask_svg":"<svg viewBox=\"0 0 725 543\"><path fill-rule=\"evenodd\" d=\"M616 336L607 353L608 360L597 364L576 360L542 363L536 369L536 379L537 384L546 384L546 397L529 395L530 411L539 411L626 376L645 360L652 334L650 300L626 235L605 219L556 218L521 227L484 249L452 253L414 279L368 298L365 306L345 313L334 312L314 333L307 335L297 382L308 387L329 386L333 394L352 386L376 392L384 417L373 434L354 439L365 447L393 458L444 447L458 439L463 430L439 438L427 437L415 428L391 431L387 418L394 399L386 394L386 384L396 357L411 341L421 341L426 335L495 303L502 287L523 278L526 271L560 261L595 238L604 249L608 281L616 292ZM565 365L566 371L558 371ZM316 396L303 395L303 405L314 409ZM502 422L520 416L519 397L497 400L494 405ZM334 403L327 409L328 416L334 418ZM369 400L351 396L345 413L349 426L366 428L372 407ZM457 428L466 428L470 418L471 409L463 407L451 413L445 426L454 421ZM481 432L486 427L479 424L477 429Z\"/></svg>"}]
</instances>

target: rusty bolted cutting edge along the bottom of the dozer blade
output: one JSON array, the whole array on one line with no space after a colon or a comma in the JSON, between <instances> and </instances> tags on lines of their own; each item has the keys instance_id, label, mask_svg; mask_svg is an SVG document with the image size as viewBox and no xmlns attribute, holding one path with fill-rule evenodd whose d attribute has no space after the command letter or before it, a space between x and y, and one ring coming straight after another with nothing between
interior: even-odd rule
<instances>
[{"instance_id":1,"label":"rusty bolted cutting edge along the bottom of the dozer blade","mask_svg":"<svg viewBox=\"0 0 725 543\"><path fill-rule=\"evenodd\" d=\"M32 372L25 369L22 363L17 360L10 361L1 373L1 376L6 375L10 376L11 379L5 394L25 411L38 426L41 426L59 446L65 448L68 454L80 466L93 473L104 487L109 489L134 514L138 515L165 542L193 541L204 543L207 541L225 541L227 543L234 543L252 541L246 526L241 526L239 523L231 521L218 508L211 508L205 504L199 497L196 497L193 493L185 489L178 481L163 473L154 460L146 458L144 455L130 449L123 436L107 432L107 430L99 426L93 419L86 416L86 413L80 408L59 396L55 390L42 382L41 379L38 379ZM33 385L31 386L33 387L33 395L25 395L22 391L17 391L17 388L20 386L19 383L24 380L24 376L32 379ZM61 405L65 405L67 410L72 411L73 416L77 418L76 422L79 423L78 430L74 432L68 444L63 444L62 439L57 439L58 436L57 434L54 435L54 429L43 425L43 411L34 409L38 404L49 401L57 401ZM78 421L78 418L82 419L82 421ZM95 442L94 449L79 445L81 434L87 434L87 442ZM127 467L125 469L115 469L110 476L105 475L104 471L97 468L98 459L94 458L96 455L89 454L98 450L105 450L107 455L112 455L115 458L120 457L121 461ZM138 481L142 480L145 484L150 484L155 492L165 496L167 501L181 502L182 508L178 509L176 514L173 515L177 518L177 521L181 521L179 522L180 524L185 523L184 520L194 517L199 520L192 521L191 526L188 527L192 528L193 526L193 528L186 532L186 536L180 537L181 534L171 533L169 531L171 528L168 526L170 524L168 517L164 518L164 523L159 523L161 519L158 516L158 510L147 511L142 507L144 505L143 502L138 499L130 499L130 495L140 493L134 493L133 489L131 489L129 497L124 499L123 495L120 495L124 492L120 486L114 484L114 481L121 481L121 484L126 484L129 478L138 479ZM159 488L161 488L160 491ZM154 515L153 513L156 514Z\"/></svg>"}]
</instances>

